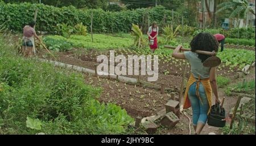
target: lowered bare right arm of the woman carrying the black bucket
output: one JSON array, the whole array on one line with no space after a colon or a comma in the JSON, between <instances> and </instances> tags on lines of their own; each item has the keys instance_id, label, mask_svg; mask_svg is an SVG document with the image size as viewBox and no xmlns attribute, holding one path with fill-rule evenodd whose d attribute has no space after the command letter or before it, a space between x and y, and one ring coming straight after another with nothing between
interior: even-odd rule
<instances>
[{"instance_id":1,"label":"lowered bare right arm of the woman carrying the black bucket","mask_svg":"<svg viewBox=\"0 0 256 146\"><path fill-rule=\"evenodd\" d=\"M220 102L220 99L218 98L216 67L210 69L210 86L212 87L213 94L215 95L215 102Z\"/></svg>"}]
</instances>

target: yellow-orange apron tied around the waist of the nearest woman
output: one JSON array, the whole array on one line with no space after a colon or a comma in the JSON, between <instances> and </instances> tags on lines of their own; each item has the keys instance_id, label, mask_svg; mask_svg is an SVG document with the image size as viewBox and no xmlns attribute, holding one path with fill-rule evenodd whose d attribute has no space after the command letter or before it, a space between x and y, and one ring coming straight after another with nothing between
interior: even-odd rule
<instances>
[{"instance_id":1,"label":"yellow-orange apron tied around the waist of the nearest woman","mask_svg":"<svg viewBox=\"0 0 256 146\"><path fill-rule=\"evenodd\" d=\"M207 95L209 107L211 107L212 106L212 87L210 86L210 78L204 78L203 80L200 80L200 76L199 76L199 79L196 80L196 78L193 76L193 74L191 74L189 77L187 86L186 86L185 94L184 94L183 109L187 109L188 107L191 107L191 102L188 99L188 90L189 90L189 87L194 82L196 82L196 95L197 95L197 97L199 97L200 102L201 102L201 98L200 98L200 94L199 94L199 84L200 84L200 82L203 84L205 93ZM209 113L210 113L210 108L208 110L208 114Z\"/></svg>"}]
</instances>

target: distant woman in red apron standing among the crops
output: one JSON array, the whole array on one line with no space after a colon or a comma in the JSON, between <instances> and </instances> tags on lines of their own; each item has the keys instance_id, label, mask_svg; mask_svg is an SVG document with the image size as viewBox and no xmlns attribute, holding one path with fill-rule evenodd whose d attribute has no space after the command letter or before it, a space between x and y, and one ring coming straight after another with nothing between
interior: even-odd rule
<instances>
[{"instance_id":1,"label":"distant woman in red apron standing among the crops","mask_svg":"<svg viewBox=\"0 0 256 146\"><path fill-rule=\"evenodd\" d=\"M154 53L155 49L158 48L158 25L156 24L156 22L153 22L152 26L148 28L147 35L150 43L150 49Z\"/></svg>"}]
</instances>

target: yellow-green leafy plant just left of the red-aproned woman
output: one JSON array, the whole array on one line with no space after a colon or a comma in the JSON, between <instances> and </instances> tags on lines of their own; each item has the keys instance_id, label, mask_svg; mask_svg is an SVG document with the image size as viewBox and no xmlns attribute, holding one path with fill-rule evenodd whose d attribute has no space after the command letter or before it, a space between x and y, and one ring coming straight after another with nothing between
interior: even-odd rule
<instances>
[{"instance_id":1,"label":"yellow-green leafy plant just left of the red-aproned woman","mask_svg":"<svg viewBox=\"0 0 256 146\"><path fill-rule=\"evenodd\" d=\"M144 48L146 45L146 41L143 39L143 34L139 26L137 26L136 24L133 24L133 26L131 27L131 30L133 30L131 32L131 35L135 36L135 39L134 39L135 47Z\"/></svg>"}]
</instances>

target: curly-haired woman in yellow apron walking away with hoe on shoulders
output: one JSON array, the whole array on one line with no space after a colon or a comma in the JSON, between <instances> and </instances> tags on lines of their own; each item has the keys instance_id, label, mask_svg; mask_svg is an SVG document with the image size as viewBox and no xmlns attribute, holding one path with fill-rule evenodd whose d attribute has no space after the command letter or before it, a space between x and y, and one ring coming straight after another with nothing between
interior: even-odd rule
<instances>
[{"instance_id":1,"label":"curly-haired woman in yellow apron walking away with hoe on shoulders","mask_svg":"<svg viewBox=\"0 0 256 146\"><path fill-rule=\"evenodd\" d=\"M187 59L191 64L191 75L184 94L183 108L192 106L193 127L195 134L200 134L207 122L210 106L212 106L212 91L215 95L216 103L218 99L216 67L207 68L203 62L208 59L208 55L197 54L196 50L217 52L218 42L215 37L209 33L201 32L193 37L191 51L179 53L181 45L175 48L172 56L176 59Z\"/></svg>"}]
</instances>

